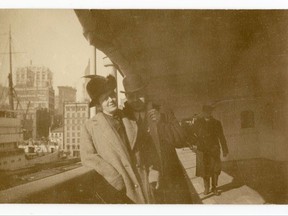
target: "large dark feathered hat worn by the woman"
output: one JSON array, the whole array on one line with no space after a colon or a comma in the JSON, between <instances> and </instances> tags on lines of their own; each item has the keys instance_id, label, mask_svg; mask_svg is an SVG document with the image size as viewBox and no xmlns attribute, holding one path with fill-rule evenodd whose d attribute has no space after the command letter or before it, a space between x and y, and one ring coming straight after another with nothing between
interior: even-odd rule
<instances>
[{"instance_id":1,"label":"large dark feathered hat worn by the woman","mask_svg":"<svg viewBox=\"0 0 288 216\"><path fill-rule=\"evenodd\" d=\"M116 79L112 75L107 77L99 75L86 75L85 78L90 78L89 82L86 85L86 90L91 98L89 107L99 105L99 97L105 93L113 91L116 86Z\"/></svg>"}]
</instances>

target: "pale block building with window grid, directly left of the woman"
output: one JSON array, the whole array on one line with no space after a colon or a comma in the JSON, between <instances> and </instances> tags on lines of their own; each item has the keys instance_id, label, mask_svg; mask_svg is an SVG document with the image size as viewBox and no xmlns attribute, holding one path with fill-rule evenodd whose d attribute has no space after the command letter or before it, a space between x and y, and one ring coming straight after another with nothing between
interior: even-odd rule
<instances>
[{"instance_id":1,"label":"pale block building with window grid, directly left of the woman","mask_svg":"<svg viewBox=\"0 0 288 216\"><path fill-rule=\"evenodd\" d=\"M80 156L81 126L89 117L90 109L88 103L65 102L63 150L69 156Z\"/></svg>"}]
</instances>

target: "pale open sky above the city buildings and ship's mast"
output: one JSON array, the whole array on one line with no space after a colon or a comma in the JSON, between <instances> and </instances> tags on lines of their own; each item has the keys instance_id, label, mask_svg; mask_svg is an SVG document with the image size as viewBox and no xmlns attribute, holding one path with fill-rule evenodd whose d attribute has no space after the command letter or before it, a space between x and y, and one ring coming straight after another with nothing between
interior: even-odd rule
<instances>
[{"instance_id":1,"label":"pale open sky above the city buildings and ship's mast","mask_svg":"<svg viewBox=\"0 0 288 216\"><path fill-rule=\"evenodd\" d=\"M0 9L0 83L8 86L8 33L12 32L13 72L17 67L45 66L53 72L53 86L72 86L81 96L91 46L72 9Z\"/></svg>"}]
</instances>

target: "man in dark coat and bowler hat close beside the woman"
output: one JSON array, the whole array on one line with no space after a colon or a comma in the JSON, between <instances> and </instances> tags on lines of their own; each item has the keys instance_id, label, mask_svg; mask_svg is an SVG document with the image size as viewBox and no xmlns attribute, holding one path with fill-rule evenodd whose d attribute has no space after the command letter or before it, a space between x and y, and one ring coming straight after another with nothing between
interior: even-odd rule
<instances>
[{"instance_id":1,"label":"man in dark coat and bowler hat close beside the woman","mask_svg":"<svg viewBox=\"0 0 288 216\"><path fill-rule=\"evenodd\" d=\"M185 146L185 134L173 112L147 100L146 85L139 75L129 75L123 79L125 95L124 113L136 122L138 133L136 142L145 151L147 144L153 143L158 155L159 179L154 187L157 203L191 203L191 197L183 168L175 148ZM151 180L152 181L152 180Z\"/></svg>"}]
</instances>

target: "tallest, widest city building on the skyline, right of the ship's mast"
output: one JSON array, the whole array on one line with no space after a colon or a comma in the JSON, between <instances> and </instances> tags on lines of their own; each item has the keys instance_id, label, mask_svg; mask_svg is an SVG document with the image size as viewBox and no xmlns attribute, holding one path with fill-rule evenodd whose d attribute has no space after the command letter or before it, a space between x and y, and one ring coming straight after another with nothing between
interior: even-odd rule
<instances>
[{"instance_id":1,"label":"tallest, widest city building on the skyline, right of the ship's mast","mask_svg":"<svg viewBox=\"0 0 288 216\"><path fill-rule=\"evenodd\" d=\"M33 138L38 136L36 111L45 109L50 118L54 115L55 93L52 83L53 73L47 67L30 65L16 70L15 91L18 100L14 101L14 107L23 114L24 125L25 121L33 121L32 127L24 128L26 134L31 133Z\"/></svg>"}]
</instances>

